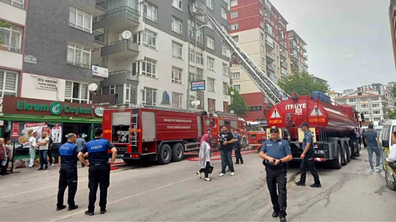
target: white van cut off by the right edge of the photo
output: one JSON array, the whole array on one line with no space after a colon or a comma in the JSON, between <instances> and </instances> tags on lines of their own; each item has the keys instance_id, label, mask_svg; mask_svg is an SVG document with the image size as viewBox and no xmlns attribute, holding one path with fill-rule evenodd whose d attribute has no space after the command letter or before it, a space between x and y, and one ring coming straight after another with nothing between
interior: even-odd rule
<instances>
[{"instance_id":1,"label":"white van cut off by the right edge of the photo","mask_svg":"<svg viewBox=\"0 0 396 222\"><path fill-rule=\"evenodd\" d=\"M383 146L383 151L381 155L381 162L382 166L385 170L385 180L387 182L388 187L391 190L396 191L396 173L395 170L388 166L386 163L386 158L389 154L389 147L392 145L391 137L392 133L396 131L396 120L389 120L386 121L383 125L381 134L380 134L380 141Z\"/></svg>"}]
</instances>

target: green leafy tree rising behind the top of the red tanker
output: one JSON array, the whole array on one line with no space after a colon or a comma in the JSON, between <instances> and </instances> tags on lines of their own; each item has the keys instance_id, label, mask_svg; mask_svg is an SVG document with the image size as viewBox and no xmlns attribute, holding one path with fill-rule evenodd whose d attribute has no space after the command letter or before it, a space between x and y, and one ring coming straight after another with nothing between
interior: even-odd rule
<instances>
[{"instance_id":1,"label":"green leafy tree rising behind the top of the red tanker","mask_svg":"<svg viewBox=\"0 0 396 222\"><path fill-rule=\"evenodd\" d=\"M311 95L315 91L326 93L330 90L330 86L321 81L314 81L306 72L299 72L293 69L293 75L288 75L278 82L278 85L289 95L296 92L297 95Z\"/></svg>"}]
</instances>

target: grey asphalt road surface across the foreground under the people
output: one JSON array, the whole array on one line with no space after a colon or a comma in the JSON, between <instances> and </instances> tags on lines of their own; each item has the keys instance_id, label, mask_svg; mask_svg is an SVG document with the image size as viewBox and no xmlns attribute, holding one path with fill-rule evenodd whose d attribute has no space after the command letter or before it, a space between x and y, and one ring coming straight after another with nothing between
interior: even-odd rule
<instances>
[{"instance_id":1,"label":"grey asphalt road surface across the foreground under the people","mask_svg":"<svg viewBox=\"0 0 396 222\"><path fill-rule=\"evenodd\" d=\"M219 178L220 161L214 161L212 181L196 175L198 162L183 160L162 165L120 166L111 172L107 213L86 216L88 169L79 168L74 211L55 211L58 166L48 171L18 169L0 178L0 218L12 222L278 222L265 171L257 152L244 155L235 176ZM288 172L289 222L395 221L396 192L387 188L383 171L370 172L366 150L341 170L319 168L322 188L294 185L299 169ZM307 185L312 184L308 173ZM67 193L67 191L66 191ZM67 202L67 194L65 194Z\"/></svg>"}]
</instances>

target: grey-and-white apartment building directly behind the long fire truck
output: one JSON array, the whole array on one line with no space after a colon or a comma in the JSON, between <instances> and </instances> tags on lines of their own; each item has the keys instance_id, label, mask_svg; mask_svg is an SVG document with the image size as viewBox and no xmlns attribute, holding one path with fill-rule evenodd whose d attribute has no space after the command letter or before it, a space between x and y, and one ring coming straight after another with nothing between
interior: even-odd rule
<instances>
[{"instance_id":1,"label":"grey-and-white apartment building directly behind the long fire truck","mask_svg":"<svg viewBox=\"0 0 396 222\"><path fill-rule=\"evenodd\" d=\"M228 27L227 0L196 2ZM92 25L92 64L109 71L99 93L116 93L118 104L228 111L228 51L202 16L190 14L189 3L106 0L107 12ZM187 97L192 80L205 80L206 87ZM196 100L200 104L192 105Z\"/></svg>"}]
</instances>

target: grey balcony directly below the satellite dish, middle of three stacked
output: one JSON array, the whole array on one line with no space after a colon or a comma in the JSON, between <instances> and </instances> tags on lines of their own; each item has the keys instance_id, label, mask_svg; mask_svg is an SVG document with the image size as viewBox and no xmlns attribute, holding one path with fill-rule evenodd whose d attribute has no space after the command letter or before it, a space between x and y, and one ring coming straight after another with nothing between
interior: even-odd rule
<instances>
[{"instance_id":1,"label":"grey balcony directly below the satellite dish, middle of three stacked","mask_svg":"<svg viewBox=\"0 0 396 222\"><path fill-rule=\"evenodd\" d=\"M133 41L122 39L107 43L100 48L100 56L126 57L139 54L139 44Z\"/></svg>"}]
</instances>

